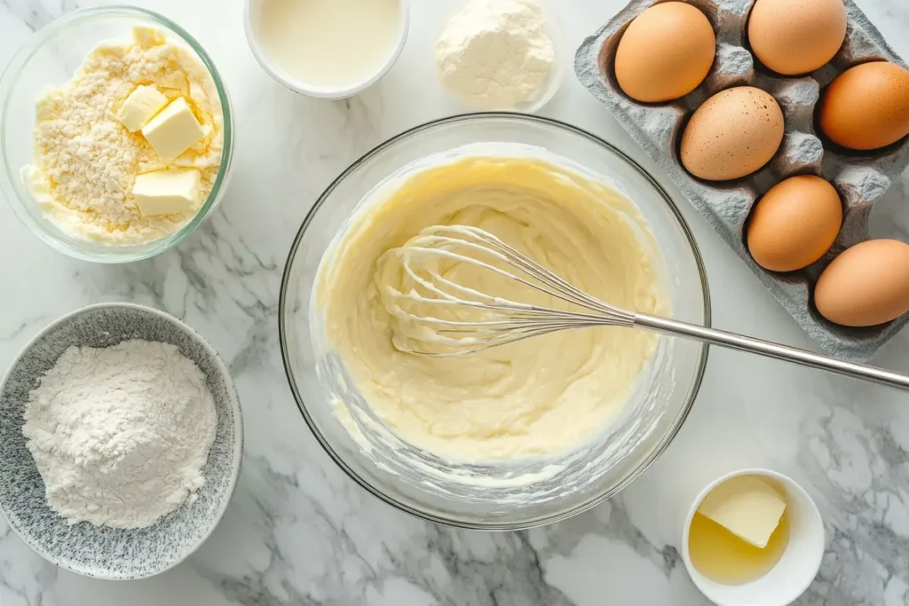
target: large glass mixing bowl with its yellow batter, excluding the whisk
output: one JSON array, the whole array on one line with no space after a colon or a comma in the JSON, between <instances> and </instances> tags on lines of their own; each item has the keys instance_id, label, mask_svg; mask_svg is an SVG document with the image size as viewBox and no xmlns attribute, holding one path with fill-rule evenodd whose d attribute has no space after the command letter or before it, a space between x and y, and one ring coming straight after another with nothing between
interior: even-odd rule
<instances>
[{"instance_id":1,"label":"large glass mixing bowl with its yellow batter, excluding the whisk","mask_svg":"<svg viewBox=\"0 0 909 606\"><path fill-rule=\"evenodd\" d=\"M460 187L469 189L456 194ZM601 195L612 204L605 217L596 210ZM545 341L554 335L546 335L514 343L514 350L490 350L489 358L407 360L390 347L389 316L373 307L371 275L380 280L373 256L389 237L403 243L426 221L479 222L511 242L523 233L521 245L543 244L534 251L538 260L582 281L589 277L582 267L606 268L584 263L585 254L564 257L574 243L584 243L582 252L602 243L602 253L611 238L625 238L628 251L636 251L634 233L646 232L641 242L652 243L648 250L662 259L642 265L648 278L659 274L668 303L661 309L710 322L692 234L668 194L620 150L568 124L526 114L466 114L418 126L366 154L325 191L285 266L278 313L285 371L325 451L356 482L405 512L484 530L556 522L632 482L684 422L701 384L706 346L654 337L652 355L627 367L633 371L625 375L627 391L616 384L619 405L605 416L595 402L611 393L599 380L612 373L612 356L633 361L647 352L635 340L651 335L594 328L554 337L548 344L561 348L555 355ZM527 222L540 231L522 232ZM358 234L365 237L353 237ZM615 259L632 258L609 250L619 253ZM597 254L587 258L603 260ZM352 263L342 263L345 257ZM646 284L639 284L632 289L642 295L635 301L654 304ZM588 352L594 366L586 365ZM510 364L526 372L513 373ZM427 372L442 376L427 381ZM477 389L488 391L477 397ZM519 393L534 405L511 411L511 400L500 401L496 392ZM380 402L384 393L402 405ZM550 407L550 395L561 403ZM588 397L594 406L577 405ZM494 417L491 424L484 412ZM589 427L577 426L588 421Z\"/></svg>"}]
</instances>

